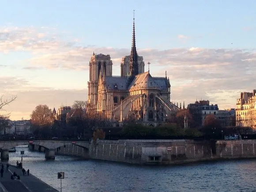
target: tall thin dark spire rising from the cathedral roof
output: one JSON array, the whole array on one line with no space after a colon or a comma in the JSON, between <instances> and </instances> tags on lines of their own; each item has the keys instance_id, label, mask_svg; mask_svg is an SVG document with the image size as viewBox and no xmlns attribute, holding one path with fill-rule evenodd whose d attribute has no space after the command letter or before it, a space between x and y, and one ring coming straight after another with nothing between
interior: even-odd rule
<instances>
[{"instance_id":1,"label":"tall thin dark spire rising from the cathedral roof","mask_svg":"<svg viewBox=\"0 0 256 192\"><path fill-rule=\"evenodd\" d=\"M130 72L132 76L138 75L138 54L136 51L136 43L135 43L135 23L134 23L134 11L133 10L133 30L132 30L132 50L130 54Z\"/></svg>"}]
</instances>

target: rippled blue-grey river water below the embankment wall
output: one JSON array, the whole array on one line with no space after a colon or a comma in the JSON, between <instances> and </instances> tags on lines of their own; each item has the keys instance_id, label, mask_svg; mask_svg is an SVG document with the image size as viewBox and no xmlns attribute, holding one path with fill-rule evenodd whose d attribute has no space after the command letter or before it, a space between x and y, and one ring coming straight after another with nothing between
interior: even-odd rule
<instances>
[{"instance_id":1,"label":"rippled blue-grey river water below the embankment wall","mask_svg":"<svg viewBox=\"0 0 256 192\"><path fill-rule=\"evenodd\" d=\"M256 192L256 160L200 162L179 166L134 166L81 160L16 147L9 163L21 160L30 173L60 191L57 172L65 172L62 192Z\"/></svg>"}]
</instances>

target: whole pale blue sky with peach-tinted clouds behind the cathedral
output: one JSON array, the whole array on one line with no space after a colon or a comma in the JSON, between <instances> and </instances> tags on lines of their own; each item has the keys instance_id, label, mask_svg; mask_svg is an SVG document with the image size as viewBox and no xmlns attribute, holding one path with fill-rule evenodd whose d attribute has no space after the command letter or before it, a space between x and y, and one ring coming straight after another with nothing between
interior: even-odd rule
<instances>
[{"instance_id":1,"label":"whole pale blue sky with peach-tinted clouds behind the cathedral","mask_svg":"<svg viewBox=\"0 0 256 192\"><path fill-rule=\"evenodd\" d=\"M1 114L30 119L87 101L92 53L109 54L113 75L132 45L152 76L167 76L171 101L209 100L235 108L256 89L255 0L9 0L0 8L0 95L17 99ZM147 70L147 65L145 65Z\"/></svg>"}]
</instances>

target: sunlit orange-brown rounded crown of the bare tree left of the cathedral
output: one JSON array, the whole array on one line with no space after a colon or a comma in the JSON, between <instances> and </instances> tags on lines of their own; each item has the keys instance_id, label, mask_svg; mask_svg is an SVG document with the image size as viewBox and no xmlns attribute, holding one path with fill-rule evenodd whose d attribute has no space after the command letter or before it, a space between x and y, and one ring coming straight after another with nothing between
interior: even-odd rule
<instances>
[{"instance_id":1,"label":"sunlit orange-brown rounded crown of the bare tree left of the cathedral","mask_svg":"<svg viewBox=\"0 0 256 192\"><path fill-rule=\"evenodd\" d=\"M47 105L38 105L30 115L31 124L45 127L53 124L53 112Z\"/></svg>"}]
</instances>

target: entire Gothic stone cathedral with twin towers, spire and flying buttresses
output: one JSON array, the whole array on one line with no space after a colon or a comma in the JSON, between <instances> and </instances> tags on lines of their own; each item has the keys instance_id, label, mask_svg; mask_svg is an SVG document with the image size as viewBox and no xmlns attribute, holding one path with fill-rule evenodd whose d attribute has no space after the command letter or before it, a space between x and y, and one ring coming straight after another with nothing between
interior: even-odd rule
<instances>
[{"instance_id":1,"label":"entire Gothic stone cathedral with twin towers, spire and flying buttresses","mask_svg":"<svg viewBox=\"0 0 256 192\"><path fill-rule=\"evenodd\" d=\"M134 18L132 49L122 58L120 76L112 75L112 65L109 55L91 56L88 113L100 114L117 125L132 120L157 126L179 110L170 102L169 78L152 77L149 69L144 72L143 57L136 51Z\"/></svg>"}]
</instances>

